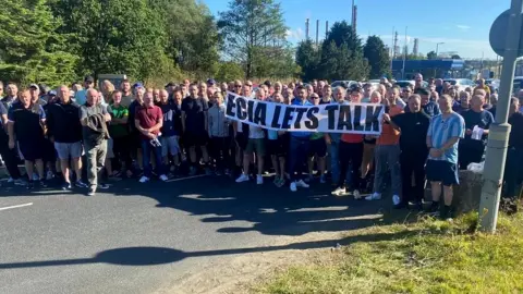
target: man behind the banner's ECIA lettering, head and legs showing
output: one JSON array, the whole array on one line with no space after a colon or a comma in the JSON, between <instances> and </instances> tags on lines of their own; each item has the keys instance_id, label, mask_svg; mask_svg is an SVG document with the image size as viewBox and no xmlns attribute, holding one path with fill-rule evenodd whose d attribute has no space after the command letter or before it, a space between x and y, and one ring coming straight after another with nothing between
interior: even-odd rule
<instances>
[{"instance_id":1,"label":"man behind the banner's ECIA lettering, head and legs showing","mask_svg":"<svg viewBox=\"0 0 523 294\"><path fill-rule=\"evenodd\" d=\"M256 99L264 101L266 93L264 88L258 88ZM252 155L256 155L258 173L256 174L256 184L262 185L264 177L264 159L265 159L265 131L255 125L248 125L248 140L243 155L243 173L236 179L236 183L248 181L248 167L251 164Z\"/></svg>"}]
</instances>

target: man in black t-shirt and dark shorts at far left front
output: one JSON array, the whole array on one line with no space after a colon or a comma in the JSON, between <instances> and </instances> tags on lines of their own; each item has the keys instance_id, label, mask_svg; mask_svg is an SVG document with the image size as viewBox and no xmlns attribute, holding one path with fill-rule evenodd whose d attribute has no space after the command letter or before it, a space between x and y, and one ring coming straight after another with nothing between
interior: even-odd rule
<instances>
[{"instance_id":1,"label":"man in black t-shirt and dark shorts at far left front","mask_svg":"<svg viewBox=\"0 0 523 294\"><path fill-rule=\"evenodd\" d=\"M40 186L47 186L44 173L44 146L46 112L39 105L33 103L29 90L22 91L19 102L8 112L9 148L14 149L19 143L21 157L25 161L28 175L27 188L33 188L33 172L36 166Z\"/></svg>"}]
</instances>

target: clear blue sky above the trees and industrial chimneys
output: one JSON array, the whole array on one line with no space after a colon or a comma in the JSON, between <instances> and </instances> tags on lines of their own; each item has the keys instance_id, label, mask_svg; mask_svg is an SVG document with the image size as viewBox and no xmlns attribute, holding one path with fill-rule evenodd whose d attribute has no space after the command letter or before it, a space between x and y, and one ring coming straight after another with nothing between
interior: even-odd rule
<instances>
[{"instance_id":1,"label":"clear blue sky above the trees and industrial chimneys","mask_svg":"<svg viewBox=\"0 0 523 294\"><path fill-rule=\"evenodd\" d=\"M227 0L202 0L217 15L228 9ZM351 20L352 0L280 0L288 39L293 44L305 38L305 20L311 20L309 36L316 36L319 20L319 38L325 37L325 22ZM392 42L392 27L398 30L399 45L405 39L412 50L413 39L419 39L422 53L436 50L455 51L463 58L496 59L488 44L494 20L510 8L510 0L355 0L357 5L357 33L361 37L378 35L385 44Z\"/></svg>"}]
</instances>

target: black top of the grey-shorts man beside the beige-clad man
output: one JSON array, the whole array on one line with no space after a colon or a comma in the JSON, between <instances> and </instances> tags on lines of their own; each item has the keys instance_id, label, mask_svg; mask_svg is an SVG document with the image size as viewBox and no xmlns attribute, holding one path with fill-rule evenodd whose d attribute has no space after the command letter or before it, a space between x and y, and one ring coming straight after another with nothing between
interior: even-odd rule
<instances>
[{"instance_id":1,"label":"black top of the grey-shorts man beside the beige-clad man","mask_svg":"<svg viewBox=\"0 0 523 294\"><path fill-rule=\"evenodd\" d=\"M80 106L73 101L50 103L47 108L47 132L58 143L76 143L82 140Z\"/></svg>"}]
</instances>

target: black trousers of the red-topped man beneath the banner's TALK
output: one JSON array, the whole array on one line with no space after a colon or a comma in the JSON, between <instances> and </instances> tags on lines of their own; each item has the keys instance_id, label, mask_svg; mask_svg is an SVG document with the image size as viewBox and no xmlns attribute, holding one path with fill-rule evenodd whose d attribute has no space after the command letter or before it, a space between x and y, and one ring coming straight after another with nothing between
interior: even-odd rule
<instances>
[{"instance_id":1,"label":"black trousers of the red-topped man beneath the banner's TALK","mask_svg":"<svg viewBox=\"0 0 523 294\"><path fill-rule=\"evenodd\" d=\"M349 164L352 164L351 187L353 189L361 189L362 179L360 168L363 160L363 142L362 143L345 143L340 140L339 149L340 158L340 174L346 174ZM345 186L345 176L340 176L338 187Z\"/></svg>"}]
</instances>

